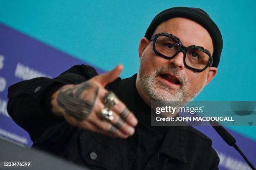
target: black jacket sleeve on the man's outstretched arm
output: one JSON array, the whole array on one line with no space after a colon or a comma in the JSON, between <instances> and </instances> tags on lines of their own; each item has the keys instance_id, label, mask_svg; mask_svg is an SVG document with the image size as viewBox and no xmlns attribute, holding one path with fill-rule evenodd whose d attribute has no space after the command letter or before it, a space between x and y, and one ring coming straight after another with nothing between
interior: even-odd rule
<instances>
[{"instance_id":1,"label":"black jacket sleeve on the man's outstretched arm","mask_svg":"<svg viewBox=\"0 0 256 170\"><path fill-rule=\"evenodd\" d=\"M29 133L33 142L56 140L74 127L63 117L51 114L51 95L63 85L79 84L95 75L97 72L93 67L75 65L54 79L38 77L11 85L8 88L8 114Z\"/></svg>"}]
</instances>

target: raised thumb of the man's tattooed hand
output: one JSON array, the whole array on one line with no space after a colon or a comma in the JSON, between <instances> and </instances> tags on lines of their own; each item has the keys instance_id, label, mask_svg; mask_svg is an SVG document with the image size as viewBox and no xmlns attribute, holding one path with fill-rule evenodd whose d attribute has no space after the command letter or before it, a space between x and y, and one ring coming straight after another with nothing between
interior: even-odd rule
<instances>
[{"instance_id":1,"label":"raised thumb of the man's tattooed hand","mask_svg":"<svg viewBox=\"0 0 256 170\"><path fill-rule=\"evenodd\" d=\"M117 79L122 71L123 65L117 65L113 70L94 77L94 80L105 87L105 85Z\"/></svg>"}]
</instances>

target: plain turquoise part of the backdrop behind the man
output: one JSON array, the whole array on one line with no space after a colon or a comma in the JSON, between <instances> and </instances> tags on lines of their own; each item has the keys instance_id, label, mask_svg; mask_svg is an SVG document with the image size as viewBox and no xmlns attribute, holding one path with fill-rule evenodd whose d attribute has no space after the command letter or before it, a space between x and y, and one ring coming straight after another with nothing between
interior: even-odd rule
<instances>
[{"instance_id":1,"label":"plain turquoise part of the backdrop behind the man","mask_svg":"<svg viewBox=\"0 0 256 170\"><path fill-rule=\"evenodd\" d=\"M0 22L102 70L122 63L130 77L151 20L174 6L202 8L223 35L218 75L196 100L255 101L255 0L0 0ZM256 127L229 128L256 141Z\"/></svg>"}]
</instances>

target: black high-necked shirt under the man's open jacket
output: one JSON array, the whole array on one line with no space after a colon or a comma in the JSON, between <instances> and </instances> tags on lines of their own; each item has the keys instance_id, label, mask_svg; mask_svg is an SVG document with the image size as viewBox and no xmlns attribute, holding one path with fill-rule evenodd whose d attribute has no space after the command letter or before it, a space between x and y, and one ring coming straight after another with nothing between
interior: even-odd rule
<instances>
[{"instance_id":1,"label":"black high-necked shirt under the man's open jacket","mask_svg":"<svg viewBox=\"0 0 256 170\"><path fill-rule=\"evenodd\" d=\"M138 146L132 169L142 170L151 159L154 159L154 155L159 156L159 148L169 127L151 126L151 108L139 95L135 82L133 89L135 116L138 118L137 132L141 143Z\"/></svg>"}]
</instances>

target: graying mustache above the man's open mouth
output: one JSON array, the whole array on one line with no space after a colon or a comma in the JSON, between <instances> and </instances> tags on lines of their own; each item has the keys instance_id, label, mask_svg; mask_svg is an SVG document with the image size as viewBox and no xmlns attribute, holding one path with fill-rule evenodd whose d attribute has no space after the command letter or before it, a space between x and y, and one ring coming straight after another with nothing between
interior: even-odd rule
<instances>
[{"instance_id":1,"label":"graying mustache above the man's open mouth","mask_svg":"<svg viewBox=\"0 0 256 170\"><path fill-rule=\"evenodd\" d=\"M178 68L174 68L174 67L159 67L157 70L155 70L154 75L155 77L158 75L161 75L164 72L169 72L172 73L173 75L175 75L176 77L179 78L179 82L181 83L181 85L184 85L187 83L187 77L182 74Z\"/></svg>"}]
</instances>

